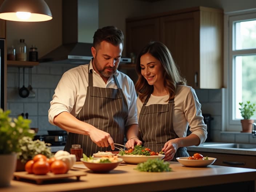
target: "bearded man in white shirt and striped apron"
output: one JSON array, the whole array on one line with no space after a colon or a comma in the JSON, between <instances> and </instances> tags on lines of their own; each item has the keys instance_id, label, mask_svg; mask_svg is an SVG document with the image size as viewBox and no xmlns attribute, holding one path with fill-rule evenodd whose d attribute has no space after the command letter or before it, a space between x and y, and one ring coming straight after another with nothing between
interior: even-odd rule
<instances>
[{"instance_id":1,"label":"bearded man in white shirt and striped apron","mask_svg":"<svg viewBox=\"0 0 256 192\"><path fill-rule=\"evenodd\" d=\"M123 40L123 32L116 27L98 29L90 63L61 77L48 117L50 123L69 132L65 151L70 152L72 144L80 144L87 156L114 150L114 143L124 143L124 135L128 147L141 144L134 84L117 71Z\"/></svg>"}]
</instances>

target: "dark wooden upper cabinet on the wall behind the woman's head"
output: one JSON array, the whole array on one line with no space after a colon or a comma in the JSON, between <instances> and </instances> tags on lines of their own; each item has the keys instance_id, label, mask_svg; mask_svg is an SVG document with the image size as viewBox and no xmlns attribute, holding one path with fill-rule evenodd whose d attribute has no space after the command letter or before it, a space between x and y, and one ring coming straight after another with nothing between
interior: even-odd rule
<instances>
[{"instance_id":1,"label":"dark wooden upper cabinet on the wall behind the woman's head","mask_svg":"<svg viewBox=\"0 0 256 192\"><path fill-rule=\"evenodd\" d=\"M195 7L127 19L126 28L127 55L137 55L149 41L161 41L188 85L223 87L223 10Z\"/></svg>"}]
</instances>

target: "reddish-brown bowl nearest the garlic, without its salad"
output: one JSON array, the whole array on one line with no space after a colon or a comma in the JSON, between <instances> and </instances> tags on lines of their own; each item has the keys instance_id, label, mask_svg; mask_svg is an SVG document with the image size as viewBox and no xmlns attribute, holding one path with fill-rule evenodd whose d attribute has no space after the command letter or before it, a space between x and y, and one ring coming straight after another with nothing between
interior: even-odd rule
<instances>
[{"instance_id":1,"label":"reddish-brown bowl nearest the garlic, without its salad","mask_svg":"<svg viewBox=\"0 0 256 192\"><path fill-rule=\"evenodd\" d=\"M99 159L99 158L95 157L93 159ZM118 161L115 163L91 163L88 161L84 161L83 158L81 158L80 160L88 169L91 169L93 172L104 173L104 172L109 172L115 169L123 161L123 159L121 158L117 158L117 159Z\"/></svg>"}]
</instances>

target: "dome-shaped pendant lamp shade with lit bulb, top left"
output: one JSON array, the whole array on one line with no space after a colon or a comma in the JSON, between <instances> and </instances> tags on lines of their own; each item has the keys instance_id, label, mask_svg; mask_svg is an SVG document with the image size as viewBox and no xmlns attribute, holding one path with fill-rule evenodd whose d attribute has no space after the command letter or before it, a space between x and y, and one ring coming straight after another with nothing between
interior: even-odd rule
<instances>
[{"instance_id":1,"label":"dome-shaped pendant lamp shade with lit bulb, top left","mask_svg":"<svg viewBox=\"0 0 256 192\"><path fill-rule=\"evenodd\" d=\"M0 19L48 21L52 19L52 12L44 0L5 0L0 7Z\"/></svg>"}]
</instances>

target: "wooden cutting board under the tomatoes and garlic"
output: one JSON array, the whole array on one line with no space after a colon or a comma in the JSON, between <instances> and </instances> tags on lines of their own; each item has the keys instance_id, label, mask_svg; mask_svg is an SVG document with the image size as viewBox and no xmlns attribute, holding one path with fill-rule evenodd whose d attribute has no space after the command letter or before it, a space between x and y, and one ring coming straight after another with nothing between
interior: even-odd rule
<instances>
[{"instance_id":1,"label":"wooden cutting board under the tomatoes and garlic","mask_svg":"<svg viewBox=\"0 0 256 192\"><path fill-rule=\"evenodd\" d=\"M21 172L14 172L13 176L16 178L16 180L20 179L29 179L29 180L35 180L36 184L41 184L45 180L55 180L55 179L66 179L68 177L76 177L76 180L80 180L80 176L87 175L86 172L80 171L80 170L69 170L68 173L65 174L54 174L52 172L48 172L46 175L35 175L35 174L29 174L26 171Z\"/></svg>"}]
</instances>

